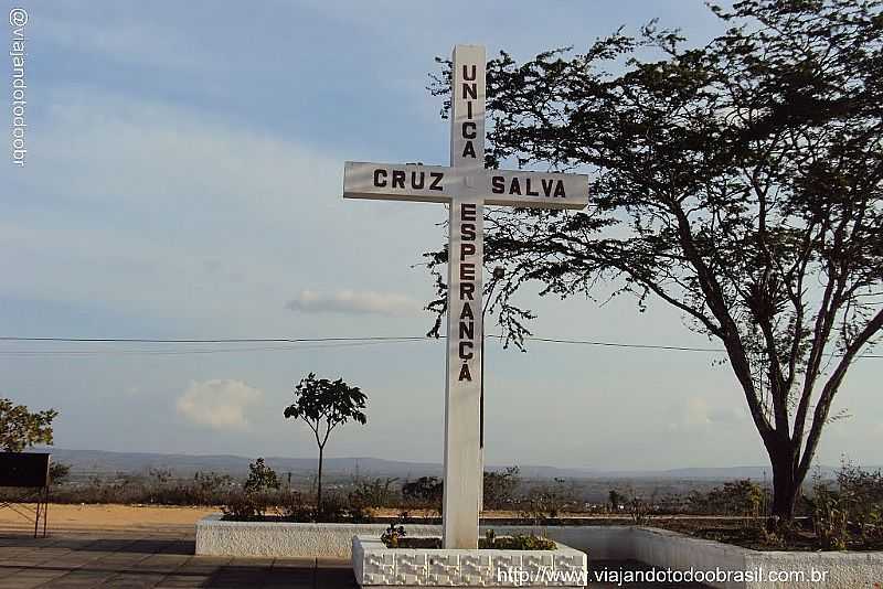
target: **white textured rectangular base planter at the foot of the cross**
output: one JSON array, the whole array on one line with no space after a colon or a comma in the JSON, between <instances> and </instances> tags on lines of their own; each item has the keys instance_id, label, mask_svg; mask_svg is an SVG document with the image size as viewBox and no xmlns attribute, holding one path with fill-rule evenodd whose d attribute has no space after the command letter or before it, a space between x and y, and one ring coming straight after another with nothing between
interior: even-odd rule
<instances>
[{"instance_id":1,"label":"white textured rectangular base planter at the foot of the cross","mask_svg":"<svg viewBox=\"0 0 883 589\"><path fill-rule=\"evenodd\" d=\"M364 589L412 587L585 587L585 553L387 548L377 536L353 536L352 569Z\"/></svg>"}]
</instances>

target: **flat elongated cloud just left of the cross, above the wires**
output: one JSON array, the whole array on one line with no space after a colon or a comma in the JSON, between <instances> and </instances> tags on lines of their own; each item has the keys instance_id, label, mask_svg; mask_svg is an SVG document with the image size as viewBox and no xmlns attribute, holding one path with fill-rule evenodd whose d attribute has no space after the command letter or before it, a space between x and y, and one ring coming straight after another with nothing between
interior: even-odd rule
<instances>
[{"instance_id":1,"label":"flat elongated cloud just left of the cross, above the wires","mask_svg":"<svg viewBox=\"0 0 883 589\"><path fill-rule=\"evenodd\" d=\"M305 313L331 312L345 314L379 314L406 317L418 314L423 304L394 292L371 292L338 290L337 292L316 292L302 290L285 304L286 309Z\"/></svg>"}]
</instances>

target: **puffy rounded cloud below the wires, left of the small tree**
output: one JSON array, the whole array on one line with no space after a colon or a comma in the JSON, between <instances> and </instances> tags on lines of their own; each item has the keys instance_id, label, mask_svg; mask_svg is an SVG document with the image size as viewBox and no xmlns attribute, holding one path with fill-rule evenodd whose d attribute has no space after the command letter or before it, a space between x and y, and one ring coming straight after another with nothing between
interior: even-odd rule
<instances>
[{"instance_id":1,"label":"puffy rounded cloud below the wires, left of the small tree","mask_svg":"<svg viewBox=\"0 0 883 589\"><path fill-rule=\"evenodd\" d=\"M259 403L264 394L242 381L215 378L192 381L178 398L178 414L213 429L245 429L246 408Z\"/></svg>"}]
</instances>

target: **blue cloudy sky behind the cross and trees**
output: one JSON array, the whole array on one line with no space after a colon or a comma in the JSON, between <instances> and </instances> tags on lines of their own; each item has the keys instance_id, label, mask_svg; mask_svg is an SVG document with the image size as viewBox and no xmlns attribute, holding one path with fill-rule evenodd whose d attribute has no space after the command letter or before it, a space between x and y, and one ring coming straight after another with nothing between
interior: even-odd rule
<instances>
[{"instance_id":1,"label":"blue cloudy sky behind the cross and trees","mask_svg":"<svg viewBox=\"0 0 883 589\"><path fill-rule=\"evenodd\" d=\"M435 57L456 43L579 50L653 18L694 43L721 31L698 0L3 2L4 22L28 13L28 152L0 168L0 336L422 335L421 255L444 243L444 206L341 193L345 160L447 164ZM662 304L538 291L523 298L538 336L716 347ZM719 354L493 340L486 353L490 464L766 463ZM316 372L369 396L368 425L336 431L327 457L440 462L444 354L0 342L0 396L57 408L62 448L311 457L283 410ZM881 371L852 368L834 408L852 417L829 426L820 462L880 462Z\"/></svg>"}]
</instances>

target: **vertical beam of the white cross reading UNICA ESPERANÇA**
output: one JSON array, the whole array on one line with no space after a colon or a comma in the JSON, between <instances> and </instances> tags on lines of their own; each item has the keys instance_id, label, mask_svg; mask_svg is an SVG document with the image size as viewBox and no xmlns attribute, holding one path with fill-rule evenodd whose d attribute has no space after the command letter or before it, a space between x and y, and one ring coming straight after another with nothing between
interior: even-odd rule
<instances>
[{"instance_id":1,"label":"vertical beam of the white cross reading UNICA ESPERAN\u00c7A","mask_svg":"<svg viewBox=\"0 0 883 589\"><path fill-rule=\"evenodd\" d=\"M485 169L485 49L454 49L450 165L464 179L450 203L448 353L445 394L445 548L478 545L481 490L481 275ZM450 334L456 334L451 336Z\"/></svg>"}]
</instances>

